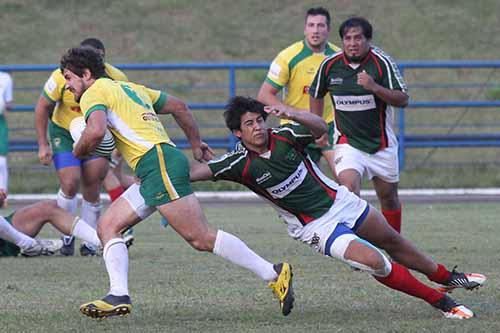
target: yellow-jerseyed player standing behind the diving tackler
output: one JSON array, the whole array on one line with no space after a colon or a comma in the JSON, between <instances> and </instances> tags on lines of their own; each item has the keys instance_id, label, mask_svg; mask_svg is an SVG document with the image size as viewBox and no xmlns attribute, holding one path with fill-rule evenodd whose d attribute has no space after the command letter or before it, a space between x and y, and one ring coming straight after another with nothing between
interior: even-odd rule
<instances>
[{"instance_id":1,"label":"yellow-jerseyed player standing behind the diving tackler","mask_svg":"<svg viewBox=\"0 0 500 333\"><path fill-rule=\"evenodd\" d=\"M309 111L309 86L321 62L340 48L328 42L330 13L322 7L310 8L306 12L304 40L296 42L283 51L271 63L266 80L260 87L257 99L267 105L286 105L290 110ZM283 100L277 95L283 91ZM324 103L323 119L329 131L316 143L307 147L309 156L318 162L324 156L335 177L333 135L335 133L331 101ZM282 119L281 124L290 121Z\"/></svg>"}]
</instances>

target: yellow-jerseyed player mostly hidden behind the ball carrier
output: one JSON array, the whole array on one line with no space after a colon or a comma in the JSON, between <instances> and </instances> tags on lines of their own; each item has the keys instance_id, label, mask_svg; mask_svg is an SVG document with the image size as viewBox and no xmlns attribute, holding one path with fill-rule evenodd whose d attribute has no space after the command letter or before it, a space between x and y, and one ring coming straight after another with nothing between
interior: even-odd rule
<instances>
[{"instance_id":1,"label":"yellow-jerseyed player mostly hidden behind the ball carrier","mask_svg":"<svg viewBox=\"0 0 500 333\"><path fill-rule=\"evenodd\" d=\"M99 50L102 57L105 55L104 45L98 39L88 38L80 45ZM125 74L110 64L106 64L106 75L114 80L127 81ZM81 116L78 102L65 87L61 70L56 69L45 83L43 93L35 108L38 157L45 165L50 164L51 160L54 162L60 184L57 204L72 215L76 213L78 203L76 194L81 182L83 195L81 216L96 228L102 209L100 190L108 172L109 162L103 157L92 156L78 159L73 155L74 142L69 132L69 125L74 118ZM50 145L47 139L47 127ZM61 254L73 255L74 238L63 236L63 242ZM83 243L80 247L80 254L95 255L96 249L90 244Z\"/></svg>"}]
</instances>

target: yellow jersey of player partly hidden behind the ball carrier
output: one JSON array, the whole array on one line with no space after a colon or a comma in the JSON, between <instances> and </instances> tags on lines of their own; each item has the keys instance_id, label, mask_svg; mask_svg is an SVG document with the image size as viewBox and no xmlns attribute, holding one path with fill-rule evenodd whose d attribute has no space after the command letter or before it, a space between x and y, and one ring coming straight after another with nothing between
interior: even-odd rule
<instances>
[{"instance_id":1,"label":"yellow jersey of player partly hidden behind the ball carrier","mask_svg":"<svg viewBox=\"0 0 500 333\"><path fill-rule=\"evenodd\" d=\"M127 76L119 69L105 64L106 75L117 81L128 81ZM43 87L45 98L56 104L51 120L66 130L69 130L69 124L76 117L82 116L82 111L75 96L66 89L66 80L61 70L58 68L52 72L49 79Z\"/></svg>"}]
</instances>

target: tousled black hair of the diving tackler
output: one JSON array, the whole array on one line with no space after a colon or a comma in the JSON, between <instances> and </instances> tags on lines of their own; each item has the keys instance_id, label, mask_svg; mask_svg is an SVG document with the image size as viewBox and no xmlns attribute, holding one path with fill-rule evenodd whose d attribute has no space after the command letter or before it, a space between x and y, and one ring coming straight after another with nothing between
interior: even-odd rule
<instances>
[{"instance_id":1,"label":"tousled black hair of the diving tackler","mask_svg":"<svg viewBox=\"0 0 500 333\"><path fill-rule=\"evenodd\" d=\"M251 97L235 96L227 102L224 108L224 120L231 131L241 129L241 117L247 113L258 113L266 120L268 114L264 104Z\"/></svg>"}]
</instances>

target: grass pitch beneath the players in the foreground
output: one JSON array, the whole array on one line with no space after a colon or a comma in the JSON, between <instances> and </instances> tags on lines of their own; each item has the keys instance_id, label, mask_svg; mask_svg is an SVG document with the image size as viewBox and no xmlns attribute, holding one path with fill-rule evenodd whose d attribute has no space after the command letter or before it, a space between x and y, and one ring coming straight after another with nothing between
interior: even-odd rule
<instances>
[{"instance_id":1,"label":"grass pitch beneath the players in the foreground","mask_svg":"<svg viewBox=\"0 0 500 333\"><path fill-rule=\"evenodd\" d=\"M2 258L4 332L498 332L498 204L407 204L404 234L448 267L489 277L475 292L452 295L477 315L452 321L424 302L291 240L271 208L206 206L212 225L245 240L273 262L294 266L296 305L282 317L253 274L196 253L154 215L136 228L130 250L133 313L94 321L78 306L108 288L101 258ZM55 236L50 229L44 236Z\"/></svg>"}]
</instances>

